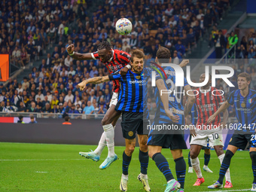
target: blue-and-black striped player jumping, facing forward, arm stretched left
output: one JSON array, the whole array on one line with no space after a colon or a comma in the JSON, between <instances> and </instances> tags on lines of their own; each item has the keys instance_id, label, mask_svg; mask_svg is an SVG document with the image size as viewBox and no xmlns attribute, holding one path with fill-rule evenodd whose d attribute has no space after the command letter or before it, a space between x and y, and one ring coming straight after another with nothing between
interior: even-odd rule
<instances>
[{"instance_id":1,"label":"blue-and-black striped player jumping, facing forward, arm stretched left","mask_svg":"<svg viewBox=\"0 0 256 192\"><path fill-rule=\"evenodd\" d=\"M114 72L105 77L91 78L87 84L100 84L105 81L118 80L121 84L118 102L115 110L122 113L122 132L126 142L126 149L123 151L123 175L120 181L120 190L126 191L128 184L128 168L132 159L132 154L136 145L136 133L139 139L139 161L141 172L138 176L142 181L146 191L151 191L148 184L148 133L144 132L143 126L147 126L149 115L144 113L144 100L146 100L147 90L144 89L147 78L151 75L151 70L144 69L144 53L141 50L134 50L131 56L132 69L126 75L120 75L120 71ZM145 105L147 106L147 105ZM143 115L145 114L145 117Z\"/></svg>"}]
</instances>

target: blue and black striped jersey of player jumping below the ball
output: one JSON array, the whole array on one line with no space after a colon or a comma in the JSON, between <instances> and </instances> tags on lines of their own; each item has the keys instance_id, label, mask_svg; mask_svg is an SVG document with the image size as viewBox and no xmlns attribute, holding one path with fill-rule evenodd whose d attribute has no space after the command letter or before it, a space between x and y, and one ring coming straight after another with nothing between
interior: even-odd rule
<instances>
[{"instance_id":1,"label":"blue and black striped jersey of player jumping below the ball","mask_svg":"<svg viewBox=\"0 0 256 192\"><path fill-rule=\"evenodd\" d=\"M118 102L115 107L117 111L146 112L147 116L149 116L147 81L151 77L150 69L144 68L140 74L129 70L124 76L117 71L108 75L108 77L112 81L119 80L121 84Z\"/></svg>"}]
</instances>

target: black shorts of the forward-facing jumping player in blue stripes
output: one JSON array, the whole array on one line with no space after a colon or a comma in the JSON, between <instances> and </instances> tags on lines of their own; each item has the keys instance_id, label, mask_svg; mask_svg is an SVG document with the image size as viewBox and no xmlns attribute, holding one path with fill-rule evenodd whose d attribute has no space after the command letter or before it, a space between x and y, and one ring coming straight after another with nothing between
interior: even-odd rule
<instances>
[{"instance_id":1,"label":"black shorts of the forward-facing jumping player in blue stripes","mask_svg":"<svg viewBox=\"0 0 256 192\"><path fill-rule=\"evenodd\" d=\"M139 135L148 135L147 127L150 125L149 120L143 120L143 112L130 112L122 111L122 132L123 138L125 139L134 139L136 133Z\"/></svg>"}]
</instances>

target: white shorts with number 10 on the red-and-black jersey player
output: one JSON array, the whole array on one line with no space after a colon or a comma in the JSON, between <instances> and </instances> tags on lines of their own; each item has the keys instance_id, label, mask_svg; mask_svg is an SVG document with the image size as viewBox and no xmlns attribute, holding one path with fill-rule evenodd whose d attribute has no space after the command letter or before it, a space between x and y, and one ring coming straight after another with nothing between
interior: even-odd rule
<instances>
[{"instance_id":1,"label":"white shorts with number 10 on the red-and-black jersey player","mask_svg":"<svg viewBox=\"0 0 256 192\"><path fill-rule=\"evenodd\" d=\"M216 145L223 145L222 130L196 130L197 136L192 136L190 145L202 145L207 147L209 139L209 147L213 148Z\"/></svg>"}]
</instances>

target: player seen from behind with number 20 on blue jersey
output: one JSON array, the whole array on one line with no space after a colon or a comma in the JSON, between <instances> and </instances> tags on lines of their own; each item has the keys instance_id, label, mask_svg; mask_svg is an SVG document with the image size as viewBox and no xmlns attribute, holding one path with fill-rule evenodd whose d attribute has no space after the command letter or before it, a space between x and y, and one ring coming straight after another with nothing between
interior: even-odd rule
<instances>
[{"instance_id":1,"label":"player seen from behind with number 20 on blue jersey","mask_svg":"<svg viewBox=\"0 0 256 192\"><path fill-rule=\"evenodd\" d=\"M157 50L156 62L158 65L161 65L163 62L170 62L171 53L166 47L160 47ZM188 60L184 60L188 62ZM186 163L182 155L182 149L187 149L187 145L184 142L184 131L181 130L181 126L184 126L184 117L187 116L189 111L195 102L195 97L193 93L190 93L190 86L187 84L186 79L184 79L184 92L190 95L187 95L187 105L183 108L182 105L182 89L183 87L175 87L175 71L171 67L163 68L166 72L167 79L164 84L168 90L178 90L178 94L163 93L159 87L156 88L156 102L157 102L157 111L154 117L154 123L152 125L151 132L148 136L148 151L149 156L154 160L160 172L166 178L167 186L165 192L175 191L184 191L184 177L186 173ZM157 80L160 79L160 76L157 77ZM160 102L160 96L167 95L169 96L169 111L172 112L173 117L168 117L166 115L166 110L164 110L164 105ZM154 127L164 127L168 126L170 129L175 127L174 132L172 130L168 132L159 132L159 130L154 129ZM177 127L177 128L176 128ZM175 170L177 175L176 181L172 175L171 170L169 169L169 163L166 158L161 154L162 148L170 148L172 152L172 157L175 161Z\"/></svg>"}]
</instances>

